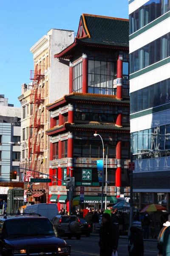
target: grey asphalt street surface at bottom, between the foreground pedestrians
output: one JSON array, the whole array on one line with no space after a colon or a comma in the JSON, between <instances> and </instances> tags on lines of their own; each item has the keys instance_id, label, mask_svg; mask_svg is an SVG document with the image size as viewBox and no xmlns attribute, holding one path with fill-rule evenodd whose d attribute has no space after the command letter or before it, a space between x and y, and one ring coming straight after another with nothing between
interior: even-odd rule
<instances>
[{"instance_id":1,"label":"grey asphalt street surface at bottom, between the foreground pedestrians","mask_svg":"<svg viewBox=\"0 0 170 256\"><path fill-rule=\"evenodd\" d=\"M99 256L98 236L82 236L81 240L76 240L73 237L71 240L65 239L65 241L68 245L71 245L71 256ZM156 241L144 241L144 256L157 256L158 250L156 247ZM118 255L128 256L127 239L119 239Z\"/></svg>"}]
</instances>

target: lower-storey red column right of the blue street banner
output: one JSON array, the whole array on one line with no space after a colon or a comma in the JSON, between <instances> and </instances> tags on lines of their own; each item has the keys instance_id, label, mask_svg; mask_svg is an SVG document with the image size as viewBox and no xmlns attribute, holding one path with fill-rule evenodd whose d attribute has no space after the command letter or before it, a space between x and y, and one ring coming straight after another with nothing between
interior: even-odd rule
<instances>
[{"instance_id":1,"label":"lower-storey red column right of the blue street banner","mask_svg":"<svg viewBox=\"0 0 170 256\"><path fill-rule=\"evenodd\" d=\"M120 197L120 189L122 186L122 141L118 141L116 145L116 159L117 159L117 169L116 169L116 187L117 187L117 198Z\"/></svg>"}]
</instances>

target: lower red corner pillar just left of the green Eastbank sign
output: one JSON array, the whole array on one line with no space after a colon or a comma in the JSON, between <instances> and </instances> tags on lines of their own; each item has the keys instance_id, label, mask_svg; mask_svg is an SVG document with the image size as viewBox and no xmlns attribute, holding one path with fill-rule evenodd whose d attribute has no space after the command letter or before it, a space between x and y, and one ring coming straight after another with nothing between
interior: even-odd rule
<instances>
[{"instance_id":1,"label":"lower red corner pillar just left of the green Eastbank sign","mask_svg":"<svg viewBox=\"0 0 170 256\"><path fill-rule=\"evenodd\" d=\"M67 157L68 157L67 175L70 175L69 168L71 168L71 177L73 177L73 134L70 131L68 132ZM69 211L69 201L67 202L67 210Z\"/></svg>"}]
</instances>

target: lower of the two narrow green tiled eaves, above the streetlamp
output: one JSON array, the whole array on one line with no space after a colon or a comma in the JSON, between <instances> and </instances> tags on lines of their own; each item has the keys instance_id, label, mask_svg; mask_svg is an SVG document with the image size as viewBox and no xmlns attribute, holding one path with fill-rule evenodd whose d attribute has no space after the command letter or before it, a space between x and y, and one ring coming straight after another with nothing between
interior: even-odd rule
<instances>
[{"instance_id":1,"label":"lower of the two narrow green tiled eaves, above the streetlamp","mask_svg":"<svg viewBox=\"0 0 170 256\"><path fill-rule=\"evenodd\" d=\"M65 123L65 128L130 132L130 127L119 127L116 125L105 125L105 124L98 124L98 123L97 124L96 123L95 124Z\"/></svg>"}]
</instances>

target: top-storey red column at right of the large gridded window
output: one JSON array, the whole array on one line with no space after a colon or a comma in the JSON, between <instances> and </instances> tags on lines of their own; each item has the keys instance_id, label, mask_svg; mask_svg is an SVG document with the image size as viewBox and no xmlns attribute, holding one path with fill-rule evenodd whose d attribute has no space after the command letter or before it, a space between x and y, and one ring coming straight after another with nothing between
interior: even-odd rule
<instances>
[{"instance_id":1,"label":"top-storey red column at right of the large gridded window","mask_svg":"<svg viewBox=\"0 0 170 256\"><path fill-rule=\"evenodd\" d=\"M117 99L122 99L122 64L122 54L119 53L119 57L117 60Z\"/></svg>"}]
</instances>

